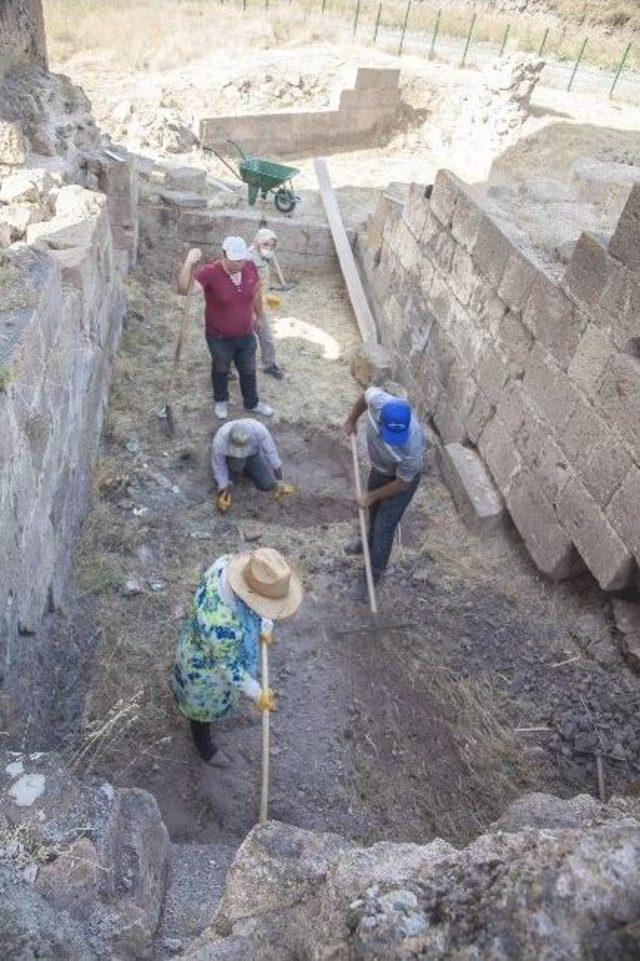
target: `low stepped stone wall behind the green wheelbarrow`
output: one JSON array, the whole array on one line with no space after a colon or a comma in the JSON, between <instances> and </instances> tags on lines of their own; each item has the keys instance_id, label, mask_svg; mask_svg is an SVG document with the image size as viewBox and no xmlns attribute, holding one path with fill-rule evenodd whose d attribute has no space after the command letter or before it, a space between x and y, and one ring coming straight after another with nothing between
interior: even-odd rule
<instances>
[{"instance_id":1,"label":"low stepped stone wall behind the green wheelbarrow","mask_svg":"<svg viewBox=\"0 0 640 961\"><path fill-rule=\"evenodd\" d=\"M398 116L399 79L399 70L361 67L355 89L342 91L337 110L213 117L200 122L200 141L211 148L235 140L247 153L264 157L300 157L379 143Z\"/></svg>"}]
</instances>

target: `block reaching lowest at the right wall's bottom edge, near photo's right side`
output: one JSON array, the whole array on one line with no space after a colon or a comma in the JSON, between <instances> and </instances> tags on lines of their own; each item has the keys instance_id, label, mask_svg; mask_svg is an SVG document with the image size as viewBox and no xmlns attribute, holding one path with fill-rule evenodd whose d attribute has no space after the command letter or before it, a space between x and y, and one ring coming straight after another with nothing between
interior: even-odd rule
<instances>
[{"instance_id":1,"label":"block reaching lowest at the right wall's bottom edge, near photo's right side","mask_svg":"<svg viewBox=\"0 0 640 961\"><path fill-rule=\"evenodd\" d=\"M561 492L558 517L580 556L604 591L624 587L631 576L633 557L590 496L574 478Z\"/></svg>"}]
</instances>

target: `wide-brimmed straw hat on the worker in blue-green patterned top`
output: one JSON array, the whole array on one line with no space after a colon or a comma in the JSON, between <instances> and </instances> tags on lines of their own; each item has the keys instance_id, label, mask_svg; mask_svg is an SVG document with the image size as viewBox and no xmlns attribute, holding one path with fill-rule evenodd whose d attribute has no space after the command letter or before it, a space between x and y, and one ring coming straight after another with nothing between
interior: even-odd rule
<instances>
[{"instance_id":1,"label":"wide-brimmed straw hat on the worker in blue-green patterned top","mask_svg":"<svg viewBox=\"0 0 640 961\"><path fill-rule=\"evenodd\" d=\"M233 592L261 617L284 620L302 603L300 578L271 547L236 554L229 561L227 577Z\"/></svg>"}]
</instances>

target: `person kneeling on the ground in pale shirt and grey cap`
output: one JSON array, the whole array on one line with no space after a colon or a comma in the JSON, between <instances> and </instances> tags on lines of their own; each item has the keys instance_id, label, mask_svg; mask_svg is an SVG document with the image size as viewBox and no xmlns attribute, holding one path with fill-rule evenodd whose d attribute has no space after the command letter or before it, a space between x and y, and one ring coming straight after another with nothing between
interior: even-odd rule
<instances>
[{"instance_id":1,"label":"person kneeling on the ground in pale shirt and grey cap","mask_svg":"<svg viewBox=\"0 0 640 961\"><path fill-rule=\"evenodd\" d=\"M282 461L273 437L251 417L230 420L218 428L211 445L211 466L218 501L229 494L231 474L244 474L260 491L275 490L282 480Z\"/></svg>"}]
</instances>

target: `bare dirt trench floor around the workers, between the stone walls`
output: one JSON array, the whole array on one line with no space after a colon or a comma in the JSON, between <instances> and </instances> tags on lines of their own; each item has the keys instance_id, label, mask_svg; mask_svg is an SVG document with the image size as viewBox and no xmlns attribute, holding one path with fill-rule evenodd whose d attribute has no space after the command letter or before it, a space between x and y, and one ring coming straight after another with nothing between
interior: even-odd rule
<instances>
[{"instance_id":1,"label":"bare dirt trench floor around the workers, between the stone walls","mask_svg":"<svg viewBox=\"0 0 640 961\"><path fill-rule=\"evenodd\" d=\"M349 372L357 333L335 274L300 279L275 324L286 378L261 380L298 493L278 503L240 483L224 518L209 466L215 424L198 312L169 440L157 411L183 301L144 265L130 280L50 729L79 771L150 791L174 841L239 843L256 820L260 718L247 705L222 723L229 763L203 765L168 679L202 571L261 544L293 560L307 591L272 651L272 817L365 841L463 842L526 789L593 792L593 757L566 750L558 718L581 702L606 713L626 698L631 710L637 696L622 670L612 676L571 636L576 616L600 599L586 582L544 584L515 538L469 534L432 456L378 623L351 600L361 562L343 552L356 515L340 425L359 389ZM242 416L237 384L231 415ZM633 781L636 761L610 767L611 790Z\"/></svg>"}]
</instances>

